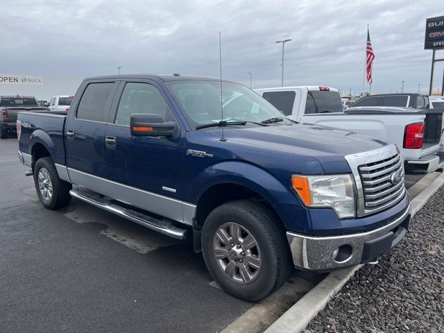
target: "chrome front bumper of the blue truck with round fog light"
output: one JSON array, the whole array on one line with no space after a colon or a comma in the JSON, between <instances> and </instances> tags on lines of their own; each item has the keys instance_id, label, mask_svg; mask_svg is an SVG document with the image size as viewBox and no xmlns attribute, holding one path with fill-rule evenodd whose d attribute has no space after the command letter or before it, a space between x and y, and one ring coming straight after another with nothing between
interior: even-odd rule
<instances>
[{"instance_id":1,"label":"chrome front bumper of the blue truck with round fog light","mask_svg":"<svg viewBox=\"0 0 444 333\"><path fill-rule=\"evenodd\" d=\"M332 271L370 262L394 248L409 228L410 205L382 228L338 236L307 236L287 231L287 240L296 268Z\"/></svg>"}]
</instances>

